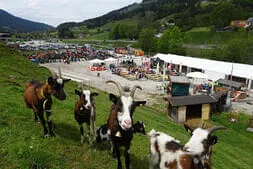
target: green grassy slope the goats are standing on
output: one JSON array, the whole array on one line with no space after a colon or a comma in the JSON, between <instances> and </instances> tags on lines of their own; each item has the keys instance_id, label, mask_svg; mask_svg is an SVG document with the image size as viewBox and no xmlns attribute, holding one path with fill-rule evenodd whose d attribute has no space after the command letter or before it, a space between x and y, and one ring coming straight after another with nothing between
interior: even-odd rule
<instances>
[{"instance_id":1,"label":"green grassy slope the goats are standing on","mask_svg":"<svg viewBox=\"0 0 253 169\"><path fill-rule=\"evenodd\" d=\"M23 102L24 83L34 78L45 80L49 72L24 60L15 51L6 51L0 44L0 168L116 168L107 145L79 145L78 125L73 118L77 97L76 83L66 84L67 100L54 99L53 120L57 137L44 139L41 125L34 124L30 109ZM110 107L104 92L96 98L97 124L105 123ZM225 115L216 115L217 124L228 127L217 132L219 143L213 149L214 169L250 169L253 166L253 135L247 133L246 116L240 124L226 122ZM168 121L165 113L153 108L138 108L135 120L143 120L147 131L155 128L181 140L189 138L183 127ZM131 146L133 169L148 168L148 138L135 135ZM251 167L250 167L251 166Z\"/></svg>"}]
</instances>

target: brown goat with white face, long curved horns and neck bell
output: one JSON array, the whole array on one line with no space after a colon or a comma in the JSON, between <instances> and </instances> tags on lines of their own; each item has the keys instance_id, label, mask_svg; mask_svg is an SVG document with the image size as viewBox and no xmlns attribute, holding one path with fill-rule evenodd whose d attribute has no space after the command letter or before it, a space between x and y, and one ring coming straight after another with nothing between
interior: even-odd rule
<instances>
[{"instance_id":1,"label":"brown goat with white face, long curved horns and neck bell","mask_svg":"<svg viewBox=\"0 0 253 169\"><path fill-rule=\"evenodd\" d=\"M130 144L133 138L133 113L137 106L145 104L146 101L134 101L134 93L137 88L142 89L140 86L134 86L130 95L126 96L119 83L114 81L107 81L106 83L115 84L120 94L119 97L114 94L109 94L110 100L114 103L107 122L111 148L112 151L116 153L118 169L122 169L119 148L121 146L125 147L125 166L126 169L129 169Z\"/></svg>"}]
</instances>

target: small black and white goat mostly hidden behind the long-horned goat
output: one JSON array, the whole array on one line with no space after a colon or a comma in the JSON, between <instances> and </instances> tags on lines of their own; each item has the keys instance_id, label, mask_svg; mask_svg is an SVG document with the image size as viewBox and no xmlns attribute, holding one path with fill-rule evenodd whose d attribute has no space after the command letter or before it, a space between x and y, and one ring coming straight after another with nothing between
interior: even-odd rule
<instances>
[{"instance_id":1,"label":"small black and white goat mostly hidden behind the long-horned goat","mask_svg":"<svg viewBox=\"0 0 253 169\"><path fill-rule=\"evenodd\" d=\"M137 121L136 123L134 123L132 130L134 133L146 135L145 124L143 122ZM96 141L97 143L101 143L103 141L110 141L107 124L104 124L97 129Z\"/></svg>"}]
</instances>

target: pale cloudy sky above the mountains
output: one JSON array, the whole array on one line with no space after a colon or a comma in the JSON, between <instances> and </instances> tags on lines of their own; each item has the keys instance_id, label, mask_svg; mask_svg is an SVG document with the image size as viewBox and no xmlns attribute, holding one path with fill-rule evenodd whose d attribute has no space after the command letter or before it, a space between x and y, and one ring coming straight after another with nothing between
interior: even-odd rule
<instances>
[{"instance_id":1,"label":"pale cloudy sky above the mountains","mask_svg":"<svg viewBox=\"0 0 253 169\"><path fill-rule=\"evenodd\" d=\"M104 15L142 0L0 0L0 8L14 16L57 26Z\"/></svg>"}]
</instances>

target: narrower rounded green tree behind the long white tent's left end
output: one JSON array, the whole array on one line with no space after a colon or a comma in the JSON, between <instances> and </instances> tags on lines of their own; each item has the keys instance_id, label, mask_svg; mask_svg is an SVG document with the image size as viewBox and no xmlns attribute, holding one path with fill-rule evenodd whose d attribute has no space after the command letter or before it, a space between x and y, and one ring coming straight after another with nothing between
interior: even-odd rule
<instances>
[{"instance_id":1,"label":"narrower rounded green tree behind the long white tent's left end","mask_svg":"<svg viewBox=\"0 0 253 169\"><path fill-rule=\"evenodd\" d=\"M139 35L138 44L145 52L154 52L156 50L155 31L151 28L143 28Z\"/></svg>"}]
</instances>

